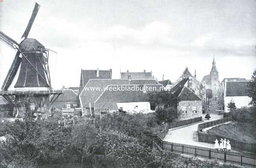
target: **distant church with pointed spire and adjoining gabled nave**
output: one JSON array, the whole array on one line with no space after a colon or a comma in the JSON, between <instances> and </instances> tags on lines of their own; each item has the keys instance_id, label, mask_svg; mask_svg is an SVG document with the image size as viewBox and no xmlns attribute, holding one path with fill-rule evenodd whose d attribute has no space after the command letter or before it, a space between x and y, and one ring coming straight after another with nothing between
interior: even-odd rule
<instances>
[{"instance_id":1,"label":"distant church with pointed spire and adjoining gabled nave","mask_svg":"<svg viewBox=\"0 0 256 168\"><path fill-rule=\"evenodd\" d=\"M206 90L212 90L212 99L218 101L220 96L220 81L218 80L218 71L216 68L214 57L212 61L212 69L210 71L210 74L204 76L201 83L204 85Z\"/></svg>"}]
</instances>

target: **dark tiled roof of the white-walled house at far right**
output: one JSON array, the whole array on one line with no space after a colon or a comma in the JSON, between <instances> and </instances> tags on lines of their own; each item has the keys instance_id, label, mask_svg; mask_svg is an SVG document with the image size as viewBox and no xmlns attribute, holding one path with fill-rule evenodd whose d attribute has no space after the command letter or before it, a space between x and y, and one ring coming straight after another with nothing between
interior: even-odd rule
<instances>
[{"instance_id":1,"label":"dark tiled roof of the white-walled house at far right","mask_svg":"<svg viewBox=\"0 0 256 168\"><path fill-rule=\"evenodd\" d=\"M226 96L248 96L250 81L230 81L226 83Z\"/></svg>"}]
</instances>

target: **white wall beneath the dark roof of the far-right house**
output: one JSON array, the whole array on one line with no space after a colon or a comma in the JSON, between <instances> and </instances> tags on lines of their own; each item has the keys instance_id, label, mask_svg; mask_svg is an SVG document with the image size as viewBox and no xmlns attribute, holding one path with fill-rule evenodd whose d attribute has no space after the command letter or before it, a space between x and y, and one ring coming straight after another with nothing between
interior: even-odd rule
<instances>
[{"instance_id":1,"label":"white wall beneath the dark roof of the far-right house","mask_svg":"<svg viewBox=\"0 0 256 168\"><path fill-rule=\"evenodd\" d=\"M225 112L229 112L227 104L233 99L235 102L236 108L241 108L243 106L249 106L248 104L251 101L251 98L248 96L234 96L234 97L224 97Z\"/></svg>"}]
</instances>

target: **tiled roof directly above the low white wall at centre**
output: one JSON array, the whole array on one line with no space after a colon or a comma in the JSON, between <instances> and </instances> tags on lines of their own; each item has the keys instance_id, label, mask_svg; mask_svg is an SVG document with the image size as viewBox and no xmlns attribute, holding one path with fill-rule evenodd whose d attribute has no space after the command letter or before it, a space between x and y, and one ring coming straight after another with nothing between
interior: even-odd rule
<instances>
[{"instance_id":1,"label":"tiled roof directly above the low white wall at centre","mask_svg":"<svg viewBox=\"0 0 256 168\"><path fill-rule=\"evenodd\" d=\"M116 85L111 85L111 87L115 87ZM128 103L128 102L148 102L149 96L148 92L143 92L143 90L139 91L128 91L128 88L132 90L132 87L140 87L143 88L143 85L123 85L127 87L126 91L110 91L106 90L99 97L99 99L95 102L95 109L110 109L117 110L117 103ZM148 87L156 87L158 90L162 85L147 85ZM117 86L116 86L117 87Z\"/></svg>"}]
</instances>

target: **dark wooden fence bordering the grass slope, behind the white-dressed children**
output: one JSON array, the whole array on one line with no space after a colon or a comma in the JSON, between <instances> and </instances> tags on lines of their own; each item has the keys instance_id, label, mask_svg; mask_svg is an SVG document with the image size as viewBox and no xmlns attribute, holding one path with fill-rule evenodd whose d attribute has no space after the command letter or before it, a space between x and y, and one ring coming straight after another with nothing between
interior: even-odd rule
<instances>
[{"instance_id":1,"label":"dark wooden fence bordering the grass slope, behind the white-dressed children","mask_svg":"<svg viewBox=\"0 0 256 168\"><path fill-rule=\"evenodd\" d=\"M224 136L220 136L220 135L216 135L216 134L208 134L206 132L202 132L202 130L204 128L207 127L211 127L214 125L218 125L224 122L228 122L231 121L231 117L226 117L220 120L215 120L215 121L211 121L211 122L204 122L202 124L198 125L198 141L199 142L207 142L207 143L214 143L215 139L217 138L218 140L220 140L221 138L224 139L228 139L230 140L230 144L232 146L232 148L236 148L238 150L241 151L247 151L247 152L253 152L256 153L256 143L246 143L246 142L241 142L239 140L234 140L232 138L229 137L224 137Z\"/></svg>"}]
</instances>

